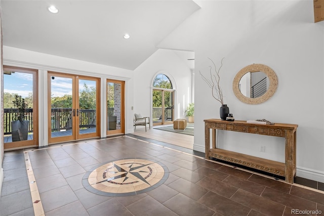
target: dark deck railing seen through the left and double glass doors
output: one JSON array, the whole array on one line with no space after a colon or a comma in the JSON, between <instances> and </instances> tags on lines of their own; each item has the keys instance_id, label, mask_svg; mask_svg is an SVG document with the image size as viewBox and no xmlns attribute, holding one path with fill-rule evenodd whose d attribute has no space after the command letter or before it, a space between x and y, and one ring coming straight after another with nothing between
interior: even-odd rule
<instances>
[{"instance_id":1,"label":"dark deck railing seen through the left and double glass doors","mask_svg":"<svg viewBox=\"0 0 324 216\"><path fill-rule=\"evenodd\" d=\"M13 114L17 109L4 109L4 134L11 134L11 122ZM52 108L51 109L51 129L52 131L70 130L72 128L72 108ZM76 115L76 114L75 114ZM96 127L96 110L79 110L79 128ZM33 131L32 109L27 109L25 119L29 121L28 132Z\"/></svg>"}]
</instances>

